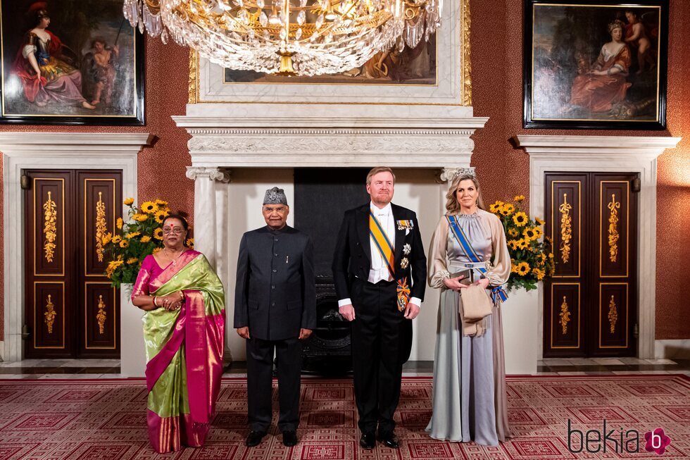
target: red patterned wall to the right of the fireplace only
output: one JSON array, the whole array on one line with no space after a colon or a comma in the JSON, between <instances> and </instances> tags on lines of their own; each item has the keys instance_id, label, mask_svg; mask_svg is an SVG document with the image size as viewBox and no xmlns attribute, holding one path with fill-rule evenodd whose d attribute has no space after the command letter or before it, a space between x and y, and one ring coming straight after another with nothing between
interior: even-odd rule
<instances>
[{"instance_id":1,"label":"red patterned wall to the right of the fireplace only","mask_svg":"<svg viewBox=\"0 0 690 460\"><path fill-rule=\"evenodd\" d=\"M658 158L656 338L690 338L684 284L690 272L690 2L671 1L667 131L525 130L522 128L522 0L471 0L475 116L490 117L475 135L473 166L487 201L529 197L529 156L510 138L530 135L683 137Z\"/></svg>"}]
</instances>

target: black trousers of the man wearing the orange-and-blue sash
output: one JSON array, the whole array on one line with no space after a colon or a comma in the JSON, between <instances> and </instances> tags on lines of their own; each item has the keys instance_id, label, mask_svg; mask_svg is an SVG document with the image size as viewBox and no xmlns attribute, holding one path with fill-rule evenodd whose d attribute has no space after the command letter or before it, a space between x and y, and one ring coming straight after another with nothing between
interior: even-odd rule
<instances>
[{"instance_id":1,"label":"black trousers of the man wearing the orange-and-blue sash","mask_svg":"<svg viewBox=\"0 0 690 460\"><path fill-rule=\"evenodd\" d=\"M351 299L352 363L359 429L391 433L400 399L403 313L396 304L396 283L354 280Z\"/></svg>"}]
</instances>

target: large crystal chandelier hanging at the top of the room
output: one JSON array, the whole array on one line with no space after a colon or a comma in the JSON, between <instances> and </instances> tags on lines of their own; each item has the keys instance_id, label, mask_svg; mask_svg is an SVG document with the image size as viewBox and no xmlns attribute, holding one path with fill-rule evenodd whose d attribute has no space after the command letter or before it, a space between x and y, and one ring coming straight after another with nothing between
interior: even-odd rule
<instances>
[{"instance_id":1,"label":"large crystal chandelier hanging at the top of the room","mask_svg":"<svg viewBox=\"0 0 690 460\"><path fill-rule=\"evenodd\" d=\"M225 68L340 73L379 51L414 48L441 23L443 0L125 0L123 11Z\"/></svg>"}]
</instances>

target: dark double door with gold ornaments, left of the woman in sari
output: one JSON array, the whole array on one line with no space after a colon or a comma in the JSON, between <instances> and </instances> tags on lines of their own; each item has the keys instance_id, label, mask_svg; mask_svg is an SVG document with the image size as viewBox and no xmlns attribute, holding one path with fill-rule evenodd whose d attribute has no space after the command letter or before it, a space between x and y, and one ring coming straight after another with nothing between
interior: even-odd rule
<instances>
[{"instance_id":1,"label":"dark double door with gold ornaments, left of the woman in sari","mask_svg":"<svg viewBox=\"0 0 690 460\"><path fill-rule=\"evenodd\" d=\"M101 237L121 214L121 173L27 170L27 358L119 357L119 295Z\"/></svg>"}]
</instances>

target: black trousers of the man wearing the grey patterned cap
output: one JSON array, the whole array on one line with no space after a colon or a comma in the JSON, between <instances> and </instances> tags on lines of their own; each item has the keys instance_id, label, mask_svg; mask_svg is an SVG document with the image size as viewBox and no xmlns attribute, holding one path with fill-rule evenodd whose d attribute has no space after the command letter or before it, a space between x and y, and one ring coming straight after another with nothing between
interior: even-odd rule
<instances>
[{"instance_id":1,"label":"black trousers of the man wearing the grey patterned cap","mask_svg":"<svg viewBox=\"0 0 690 460\"><path fill-rule=\"evenodd\" d=\"M287 340L246 341L247 397L249 428L268 431L271 424L273 349L277 356L280 431L296 431L299 425L302 344L296 337Z\"/></svg>"}]
</instances>

